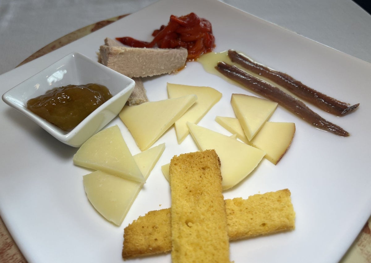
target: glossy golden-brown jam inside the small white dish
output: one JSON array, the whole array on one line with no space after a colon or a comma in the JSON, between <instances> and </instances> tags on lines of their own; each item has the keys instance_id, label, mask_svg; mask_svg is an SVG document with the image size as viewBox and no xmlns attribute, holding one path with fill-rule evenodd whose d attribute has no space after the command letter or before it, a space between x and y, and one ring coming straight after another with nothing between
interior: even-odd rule
<instances>
[{"instance_id":1,"label":"glossy golden-brown jam inside the small white dish","mask_svg":"<svg viewBox=\"0 0 371 263\"><path fill-rule=\"evenodd\" d=\"M30 99L27 109L63 131L71 131L110 98L111 92L103 85L67 85Z\"/></svg>"}]
</instances>

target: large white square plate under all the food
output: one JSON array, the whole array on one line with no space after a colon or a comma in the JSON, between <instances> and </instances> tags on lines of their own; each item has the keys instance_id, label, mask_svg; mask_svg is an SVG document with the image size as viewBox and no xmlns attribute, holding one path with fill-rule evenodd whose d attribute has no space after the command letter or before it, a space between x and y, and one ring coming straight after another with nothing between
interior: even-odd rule
<instances>
[{"instance_id":1,"label":"large white square plate under all the food","mask_svg":"<svg viewBox=\"0 0 371 263\"><path fill-rule=\"evenodd\" d=\"M347 138L320 131L278 107L271 121L295 122L296 134L287 154L273 165L263 160L246 180L225 198L289 188L296 212L296 229L287 233L231 242L234 262L338 262L371 214L369 176L371 65L279 26L214 0L161 0L112 23L83 39L0 76L3 92L29 78L59 57L80 52L93 60L105 37L131 36L151 40L152 30L171 14L190 12L213 25L216 50L235 49L257 62L286 72L329 96L360 103L357 111L321 116L351 132ZM132 25L136 25L133 27ZM211 86L223 97L199 125L230 135L215 116L234 116L232 93L251 94L206 73L197 62L175 75L147 79L148 98L167 98L166 83ZM90 171L72 163L68 147L5 103L0 104L0 213L30 263L122 263L124 227L150 210L170 207L170 187L161 173L175 154L196 151L190 135L177 144L174 128L156 143L166 148L121 227L104 220L86 198L82 175ZM115 118L132 154L139 149L124 124ZM170 262L170 255L133 260ZM131 261L127 261L131 262Z\"/></svg>"}]
</instances>

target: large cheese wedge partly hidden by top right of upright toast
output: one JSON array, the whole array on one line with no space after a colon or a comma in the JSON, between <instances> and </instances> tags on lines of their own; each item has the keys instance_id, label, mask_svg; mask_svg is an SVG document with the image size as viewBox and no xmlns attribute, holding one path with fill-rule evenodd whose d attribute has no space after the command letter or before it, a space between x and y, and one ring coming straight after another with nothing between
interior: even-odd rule
<instances>
[{"instance_id":1,"label":"large cheese wedge partly hidden by top right of upright toast","mask_svg":"<svg viewBox=\"0 0 371 263\"><path fill-rule=\"evenodd\" d=\"M223 190L242 181L265 155L260 149L244 144L196 124L187 123L193 139L201 151L215 149L220 158Z\"/></svg>"}]
</instances>

